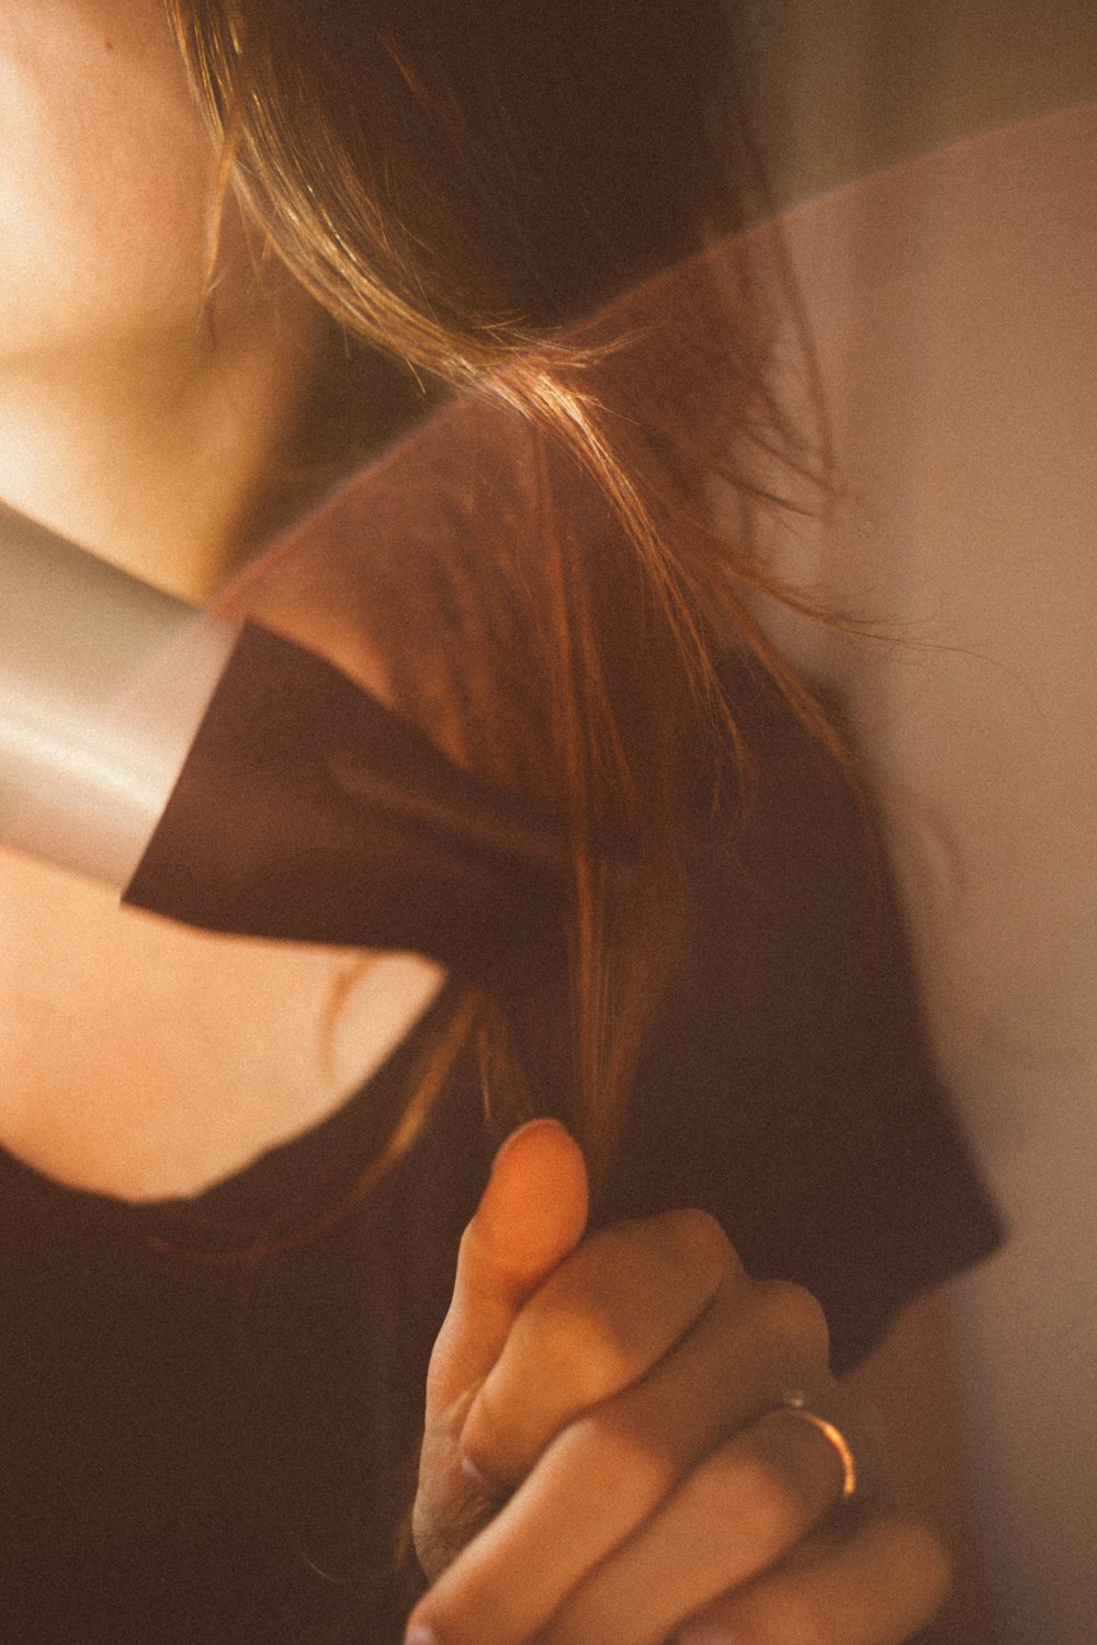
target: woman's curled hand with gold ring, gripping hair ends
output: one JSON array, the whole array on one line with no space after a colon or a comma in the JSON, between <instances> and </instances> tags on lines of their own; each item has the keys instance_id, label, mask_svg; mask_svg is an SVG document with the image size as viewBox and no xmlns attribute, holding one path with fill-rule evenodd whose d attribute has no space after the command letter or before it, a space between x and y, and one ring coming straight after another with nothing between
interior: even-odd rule
<instances>
[{"instance_id":1,"label":"woman's curled hand with gold ring, gripping hair ends","mask_svg":"<svg viewBox=\"0 0 1097 1645\"><path fill-rule=\"evenodd\" d=\"M898 1645L946 1587L933 1533L859 1454L775 1411L835 1408L827 1331L702 1212L584 1240L553 1122L498 1153L428 1379L414 1510L439 1645ZM849 1431L845 1418L839 1420ZM421 1632L416 1632L421 1630Z\"/></svg>"}]
</instances>

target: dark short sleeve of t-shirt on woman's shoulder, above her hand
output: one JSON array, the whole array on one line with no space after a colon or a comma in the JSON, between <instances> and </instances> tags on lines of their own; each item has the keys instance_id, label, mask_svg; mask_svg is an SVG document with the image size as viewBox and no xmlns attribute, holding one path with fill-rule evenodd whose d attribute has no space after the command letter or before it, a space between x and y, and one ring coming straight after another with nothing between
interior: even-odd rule
<instances>
[{"instance_id":1,"label":"dark short sleeve of t-shirt on woman's shoulder, above her hand","mask_svg":"<svg viewBox=\"0 0 1097 1645\"><path fill-rule=\"evenodd\" d=\"M819 1298L840 1372L1002 1226L933 1059L883 846L873 877L834 757L745 673L729 691L757 806L735 854L699 850L694 943L599 1216L712 1212L748 1272Z\"/></svg>"}]
</instances>

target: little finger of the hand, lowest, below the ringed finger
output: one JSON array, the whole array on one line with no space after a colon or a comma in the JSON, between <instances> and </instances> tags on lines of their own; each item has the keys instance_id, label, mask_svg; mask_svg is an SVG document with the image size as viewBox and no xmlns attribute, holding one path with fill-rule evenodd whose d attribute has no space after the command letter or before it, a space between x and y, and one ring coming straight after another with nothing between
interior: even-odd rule
<instances>
[{"instance_id":1,"label":"little finger of the hand, lowest, below the ringed finger","mask_svg":"<svg viewBox=\"0 0 1097 1645\"><path fill-rule=\"evenodd\" d=\"M681 1629L678 1645L901 1645L933 1620L949 1576L944 1548L921 1522L850 1517L709 1606ZM577 1645L579 1635L551 1632L538 1645L566 1642ZM620 1640L607 1633L599 1645Z\"/></svg>"}]
</instances>

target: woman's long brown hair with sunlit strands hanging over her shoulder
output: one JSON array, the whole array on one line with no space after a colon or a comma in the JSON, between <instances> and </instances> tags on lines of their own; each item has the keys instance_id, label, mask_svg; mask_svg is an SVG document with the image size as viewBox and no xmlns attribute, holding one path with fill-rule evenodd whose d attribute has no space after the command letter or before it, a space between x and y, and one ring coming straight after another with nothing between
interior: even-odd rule
<instances>
[{"instance_id":1,"label":"woman's long brown hair with sunlit strands hanging over her shoulder","mask_svg":"<svg viewBox=\"0 0 1097 1645\"><path fill-rule=\"evenodd\" d=\"M752 750L719 658L753 660L855 781L840 735L752 615L758 592L811 610L752 551L745 500L765 487L748 449L780 454L801 490L826 472L819 426L799 426L770 388L773 294L745 248L730 291L727 262L719 290L701 266L702 313L686 329L666 329L658 290L623 329L617 309L600 314L765 215L725 8L166 3L222 133L225 181L275 252L406 382L484 387L521 446L510 540L410 564L398 594L363 554L360 609L401 709L571 821L567 1010L541 1000L516 1026L482 999L465 1043L503 1124L549 1101L541 1087L566 1092L597 1178L687 928L697 819L729 785L748 804ZM664 387L668 360L687 406ZM743 503L737 533L711 523L714 475ZM590 844L607 829L641 846L627 892Z\"/></svg>"}]
</instances>

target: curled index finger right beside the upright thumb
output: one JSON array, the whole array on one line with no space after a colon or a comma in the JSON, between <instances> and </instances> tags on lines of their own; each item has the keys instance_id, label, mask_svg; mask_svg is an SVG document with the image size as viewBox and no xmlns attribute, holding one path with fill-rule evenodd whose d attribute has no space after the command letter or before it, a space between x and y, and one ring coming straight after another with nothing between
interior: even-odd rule
<instances>
[{"instance_id":1,"label":"curled index finger right beside the upright thumb","mask_svg":"<svg viewBox=\"0 0 1097 1645\"><path fill-rule=\"evenodd\" d=\"M638 1383L717 1296L734 1300L742 1280L719 1224L702 1212L595 1234L521 1311L469 1410L462 1454L500 1487L516 1485L569 1421ZM734 1379L714 1352L706 1362L717 1387ZM711 1385L694 1382L699 1403L683 1392L668 1411L712 1408Z\"/></svg>"}]
</instances>

